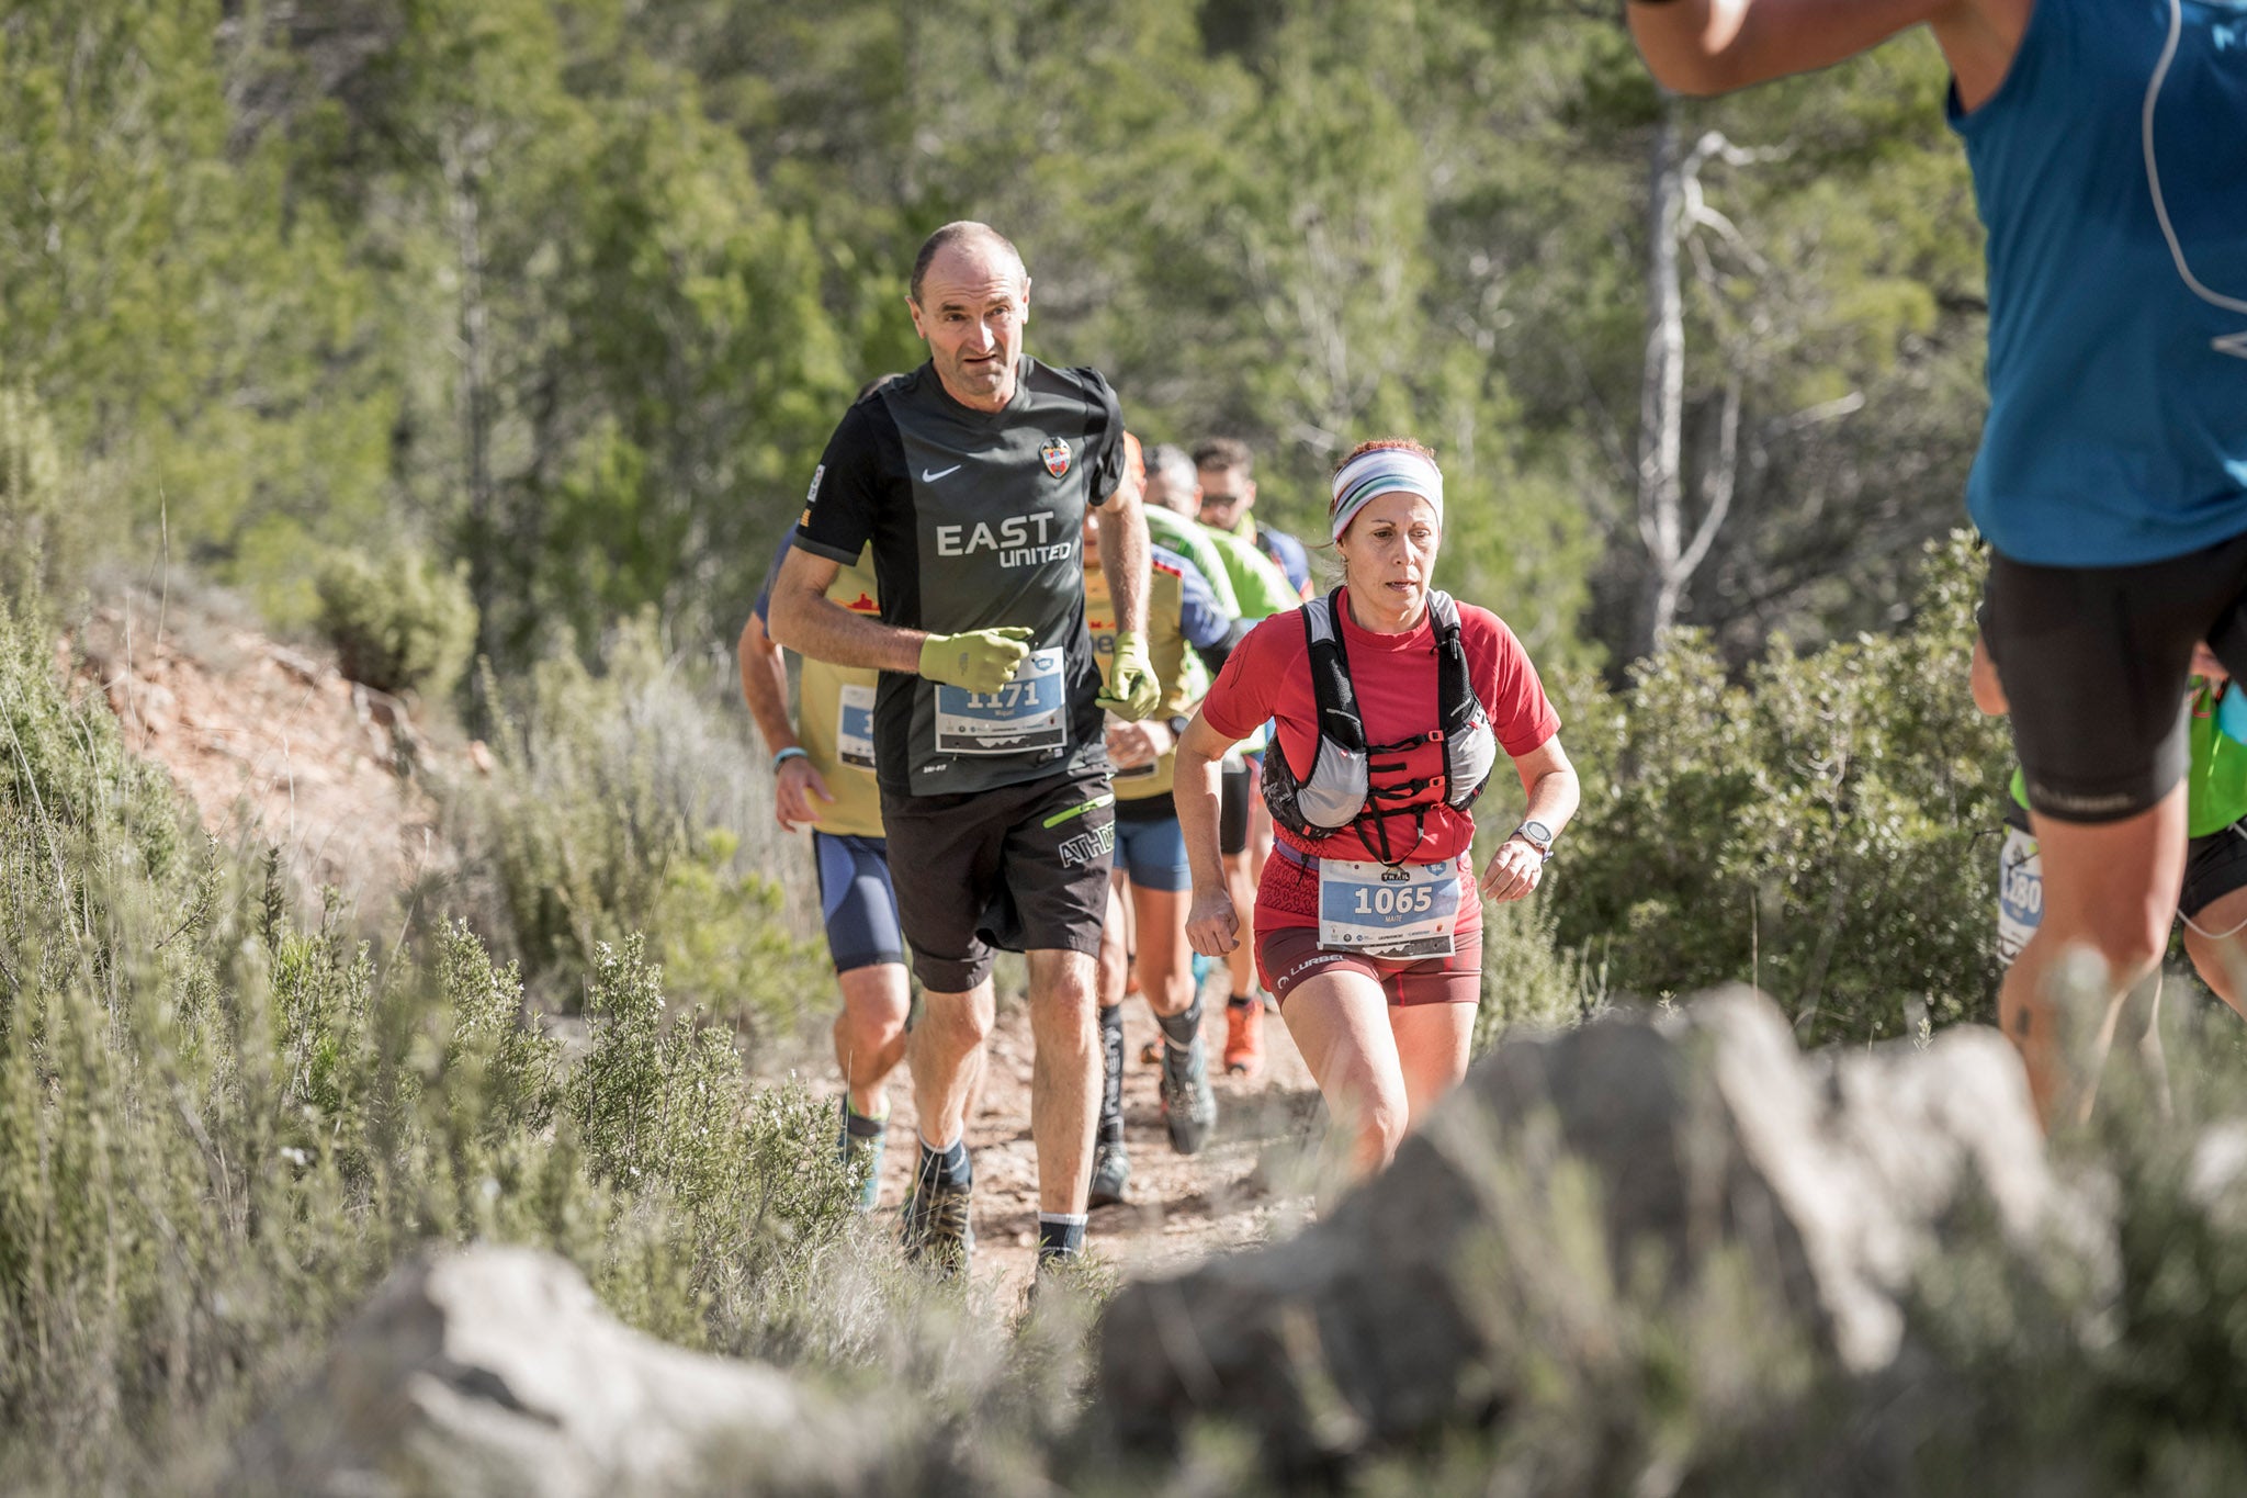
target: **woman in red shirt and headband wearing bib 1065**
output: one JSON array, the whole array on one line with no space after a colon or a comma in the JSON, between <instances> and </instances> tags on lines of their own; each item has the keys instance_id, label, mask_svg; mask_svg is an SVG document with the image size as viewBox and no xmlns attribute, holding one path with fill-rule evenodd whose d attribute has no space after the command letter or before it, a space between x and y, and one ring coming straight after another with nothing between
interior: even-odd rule
<instances>
[{"instance_id":1,"label":"woman in red shirt and headband wearing bib 1065","mask_svg":"<svg viewBox=\"0 0 2247 1498\"><path fill-rule=\"evenodd\" d=\"M1240 941L1240 914L1218 853L1218 761L1276 723L1285 761L1274 775L1265 757L1276 844L1256 889L1256 966L1368 1175L1465 1076L1481 901L1537 887L1580 788L1521 642L1488 609L1431 586L1443 544L1434 454L1400 438L1362 445L1335 469L1330 526L1341 588L1267 618L1234 649L1177 746L1175 795L1193 867L1186 939L1222 957ZM1467 804L1499 748L1528 791L1528 817L1474 898Z\"/></svg>"}]
</instances>

